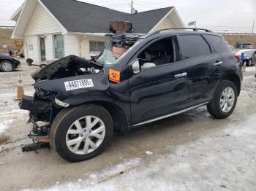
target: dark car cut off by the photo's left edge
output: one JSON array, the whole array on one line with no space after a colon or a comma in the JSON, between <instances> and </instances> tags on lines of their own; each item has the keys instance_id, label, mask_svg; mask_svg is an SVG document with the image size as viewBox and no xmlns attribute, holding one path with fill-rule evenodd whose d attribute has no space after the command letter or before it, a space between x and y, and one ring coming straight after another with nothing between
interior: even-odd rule
<instances>
[{"instance_id":1,"label":"dark car cut off by the photo's left edge","mask_svg":"<svg viewBox=\"0 0 256 191\"><path fill-rule=\"evenodd\" d=\"M16 58L12 58L10 55L0 55L0 71L12 71L17 69L20 65L20 61Z\"/></svg>"}]
</instances>

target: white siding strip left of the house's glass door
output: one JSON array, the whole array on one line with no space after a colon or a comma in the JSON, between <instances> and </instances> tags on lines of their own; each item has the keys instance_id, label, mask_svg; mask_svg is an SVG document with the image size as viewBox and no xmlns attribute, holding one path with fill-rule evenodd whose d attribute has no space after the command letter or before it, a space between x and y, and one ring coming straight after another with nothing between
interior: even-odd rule
<instances>
[{"instance_id":1,"label":"white siding strip left of the house's glass door","mask_svg":"<svg viewBox=\"0 0 256 191\"><path fill-rule=\"evenodd\" d=\"M39 39L38 36L25 36L25 58L31 58L34 61L34 64L39 64ZM29 46L33 46L33 50L29 50Z\"/></svg>"}]
</instances>

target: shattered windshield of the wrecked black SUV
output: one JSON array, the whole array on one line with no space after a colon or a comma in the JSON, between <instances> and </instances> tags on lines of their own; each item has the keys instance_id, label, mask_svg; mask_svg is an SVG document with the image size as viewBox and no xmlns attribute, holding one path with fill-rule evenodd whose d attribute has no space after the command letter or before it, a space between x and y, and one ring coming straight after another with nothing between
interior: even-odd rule
<instances>
[{"instance_id":1,"label":"shattered windshield of the wrecked black SUV","mask_svg":"<svg viewBox=\"0 0 256 191\"><path fill-rule=\"evenodd\" d=\"M117 61L121 60L121 58L124 58L125 55L129 51L135 47L136 44L138 44L140 41L133 44L131 47L124 46L124 47L116 47L113 46L113 42L108 42L105 49L102 52L102 55L97 58L97 62L102 64L115 64Z\"/></svg>"}]
</instances>

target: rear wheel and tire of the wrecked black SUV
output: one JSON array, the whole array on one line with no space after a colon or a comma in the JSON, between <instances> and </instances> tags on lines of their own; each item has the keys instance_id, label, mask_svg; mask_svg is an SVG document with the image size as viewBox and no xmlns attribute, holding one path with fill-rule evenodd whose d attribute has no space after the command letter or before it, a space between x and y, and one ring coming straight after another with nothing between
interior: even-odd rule
<instances>
[{"instance_id":1,"label":"rear wheel and tire of the wrecked black SUV","mask_svg":"<svg viewBox=\"0 0 256 191\"><path fill-rule=\"evenodd\" d=\"M207 105L208 112L219 119L224 119L233 113L236 107L238 91L236 85L228 80L220 82L214 99Z\"/></svg>"}]
</instances>

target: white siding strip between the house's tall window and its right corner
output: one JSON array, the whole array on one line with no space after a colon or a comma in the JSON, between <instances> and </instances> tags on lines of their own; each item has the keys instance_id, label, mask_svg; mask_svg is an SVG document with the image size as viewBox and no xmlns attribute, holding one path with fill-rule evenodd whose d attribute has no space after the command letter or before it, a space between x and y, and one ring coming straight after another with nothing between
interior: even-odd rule
<instances>
[{"instance_id":1,"label":"white siding strip between the house's tall window and its right corner","mask_svg":"<svg viewBox=\"0 0 256 191\"><path fill-rule=\"evenodd\" d=\"M64 35L64 51L67 55L79 55L78 35Z\"/></svg>"}]
</instances>

